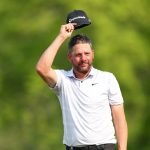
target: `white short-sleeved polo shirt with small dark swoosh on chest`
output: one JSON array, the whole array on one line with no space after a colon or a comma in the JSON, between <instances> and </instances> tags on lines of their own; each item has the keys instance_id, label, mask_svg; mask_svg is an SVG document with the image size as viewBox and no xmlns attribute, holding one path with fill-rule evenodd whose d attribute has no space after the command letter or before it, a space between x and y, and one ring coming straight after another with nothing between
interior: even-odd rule
<instances>
[{"instance_id":1,"label":"white short-sleeved polo shirt with small dark swoosh on chest","mask_svg":"<svg viewBox=\"0 0 150 150\"><path fill-rule=\"evenodd\" d=\"M63 143L116 143L110 105L123 103L123 98L115 76L92 68L87 78L79 80L72 70L55 71L58 81L53 90L62 109Z\"/></svg>"}]
</instances>

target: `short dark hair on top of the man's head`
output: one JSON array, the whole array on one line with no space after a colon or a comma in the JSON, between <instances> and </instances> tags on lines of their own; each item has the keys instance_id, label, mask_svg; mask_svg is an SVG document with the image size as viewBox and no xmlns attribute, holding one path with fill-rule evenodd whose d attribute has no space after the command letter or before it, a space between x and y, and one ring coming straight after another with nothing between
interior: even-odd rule
<instances>
[{"instance_id":1,"label":"short dark hair on top of the man's head","mask_svg":"<svg viewBox=\"0 0 150 150\"><path fill-rule=\"evenodd\" d=\"M77 34L77 35L73 36L68 43L69 52L72 50L72 47L74 45L79 44L79 43L88 43L92 48L92 41L89 37L87 37L84 34Z\"/></svg>"}]
</instances>

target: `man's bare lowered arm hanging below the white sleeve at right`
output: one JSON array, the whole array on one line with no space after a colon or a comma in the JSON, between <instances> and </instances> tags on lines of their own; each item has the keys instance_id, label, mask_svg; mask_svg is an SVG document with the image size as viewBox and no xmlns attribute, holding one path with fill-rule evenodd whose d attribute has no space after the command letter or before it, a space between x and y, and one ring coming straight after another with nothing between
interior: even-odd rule
<instances>
[{"instance_id":1,"label":"man's bare lowered arm hanging below the white sleeve at right","mask_svg":"<svg viewBox=\"0 0 150 150\"><path fill-rule=\"evenodd\" d=\"M123 104L111 106L118 150L127 150L128 128Z\"/></svg>"}]
</instances>

